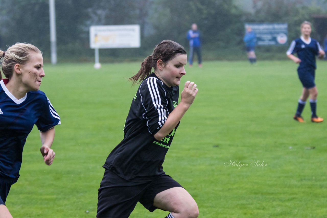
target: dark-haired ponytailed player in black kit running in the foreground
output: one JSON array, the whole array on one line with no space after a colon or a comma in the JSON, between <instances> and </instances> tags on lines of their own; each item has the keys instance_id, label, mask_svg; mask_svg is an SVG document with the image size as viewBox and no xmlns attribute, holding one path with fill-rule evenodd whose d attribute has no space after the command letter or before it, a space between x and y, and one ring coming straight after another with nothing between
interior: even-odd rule
<instances>
[{"instance_id":1,"label":"dark-haired ponytailed player in black kit running in the foreground","mask_svg":"<svg viewBox=\"0 0 327 218\"><path fill-rule=\"evenodd\" d=\"M164 40L130 78L141 84L126 118L124 139L103 166L98 218L129 217L137 202L151 212L157 208L169 211L168 218L198 217L195 200L162 166L179 122L198 92L194 82L185 82L177 104L186 63L185 49Z\"/></svg>"}]
</instances>

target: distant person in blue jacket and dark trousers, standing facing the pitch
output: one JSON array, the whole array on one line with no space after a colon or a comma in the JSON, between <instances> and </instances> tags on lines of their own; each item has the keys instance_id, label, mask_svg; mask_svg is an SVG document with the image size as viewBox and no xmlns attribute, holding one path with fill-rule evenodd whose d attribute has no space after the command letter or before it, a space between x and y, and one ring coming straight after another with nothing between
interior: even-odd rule
<instances>
[{"instance_id":1,"label":"distant person in blue jacket and dark trousers, standing facing the pitch","mask_svg":"<svg viewBox=\"0 0 327 218\"><path fill-rule=\"evenodd\" d=\"M194 53L196 52L198 56L198 65L202 67L200 32L198 31L197 24L192 24L191 29L187 32L187 39L190 41L190 66L193 65Z\"/></svg>"}]
</instances>

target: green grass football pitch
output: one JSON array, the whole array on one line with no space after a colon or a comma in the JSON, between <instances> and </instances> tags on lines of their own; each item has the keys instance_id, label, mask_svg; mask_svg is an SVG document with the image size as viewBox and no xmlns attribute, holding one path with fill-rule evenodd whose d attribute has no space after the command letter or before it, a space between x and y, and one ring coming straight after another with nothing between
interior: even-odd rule
<instances>
[{"instance_id":1,"label":"green grass football pitch","mask_svg":"<svg viewBox=\"0 0 327 218\"><path fill-rule=\"evenodd\" d=\"M95 217L102 165L123 138L137 90L126 78L139 67L46 64L40 90L61 117L52 146L56 158L51 166L43 163L35 127L6 202L13 217ZM308 103L302 114L307 122L292 119L301 93L296 67L291 60L186 66L181 84L195 81L199 92L163 166L197 201L200 218L326 217L327 121L309 122ZM318 115L325 119L326 68L319 60ZM256 160L260 165L251 166ZM244 165L229 165L233 161ZM138 204L130 217L166 215Z\"/></svg>"}]
</instances>

